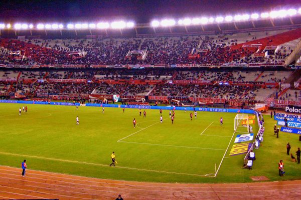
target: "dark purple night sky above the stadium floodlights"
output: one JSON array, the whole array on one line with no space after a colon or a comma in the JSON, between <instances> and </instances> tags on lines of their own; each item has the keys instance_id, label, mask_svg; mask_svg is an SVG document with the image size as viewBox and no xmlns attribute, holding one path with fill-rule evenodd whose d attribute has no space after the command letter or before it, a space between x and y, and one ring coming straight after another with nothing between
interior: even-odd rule
<instances>
[{"instance_id":1,"label":"dark purple night sky above the stadium floodlights","mask_svg":"<svg viewBox=\"0 0 301 200\"><path fill-rule=\"evenodd\" d=\"M63 20L75 18L133 19L149 22L164 17L216 16L271 8L299 8L300 0L1 0L0 17L18 20ZM286 7L284 7L286 8ZM46 19L45 19L46 20Z\"/></svg>"}]
</instances>

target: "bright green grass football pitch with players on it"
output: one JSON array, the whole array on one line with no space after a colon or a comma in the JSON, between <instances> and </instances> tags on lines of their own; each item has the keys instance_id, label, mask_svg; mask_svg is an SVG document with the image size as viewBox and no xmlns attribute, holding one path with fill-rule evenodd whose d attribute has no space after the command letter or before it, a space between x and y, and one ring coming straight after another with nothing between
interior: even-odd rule
<instances>
[{"instance_id":1,"label":"bright green grass football pitch with players on it","mask_svg":"<svg viewBox=\"0 0 301 200\"><path fill-rule=\"evenodd\" d=\"M157 109L138 109L27 104L0 104L0 164L90 177L159 182L245 182L252 175L278 180L277 162L284 159L286 140L275 140L274 121L266 116L262 147L256 150L252 170L242 169L245 154L230 156L234 144L236 113L176 110L172 124L169 111L163 122ZM76 116L80 124L76 124ZM219 118L224 124L220 125ZM136 119L136 127L132 120ZM254 132L258 130L256 123ZM269 127L271 126L271 127ZM285 139L293 134L283 133ZM269 138L270 137L270 138ZM275 142L275 141L276 142ZM273 142L272 142L273 141ZM297 141L291 141L292 146ZM279 149L282 149L279 151ZM111 166L115 151L116 167ZM275 152L272 152L275 151ZM283 152L284 153L283 153ZM285 159L284 159L285 160ZM285 160L286 161L286 160ZM287 158L287 162L289 159ZM296 164L282 179L299 178Z\"/></svg>"}]
</instances>

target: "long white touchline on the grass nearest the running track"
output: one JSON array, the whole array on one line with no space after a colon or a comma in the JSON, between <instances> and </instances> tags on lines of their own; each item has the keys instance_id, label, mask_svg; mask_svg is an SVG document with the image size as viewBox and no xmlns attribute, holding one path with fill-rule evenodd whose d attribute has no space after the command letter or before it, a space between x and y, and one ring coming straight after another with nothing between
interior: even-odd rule
<instances>
[{"instance_id":1,"label":"long white touchline on the grass nearest the running track","mask_svg":"<svg viewBox=\"0 0 301 200\"><path fill-rule=\"evenodd\" d=\"M0 154L16 155L16 156L23 156L23 157L35 157L35 158L40 158L40 159L57 160L57 161L62 161L62 162L91 164L91 165L97 165L97 166L111 167L109 164L98 164L98 163L91 163L91 162L81 162L81 161L76 161L76 160L58 159L58 158L50 158L50 157L40 157L40 156L35 156L35 155L22 155L22 154L7 153L7 152L0 152ZM160 171L160 170L152 170L152 169L141 169L141 168L125 167L125 166L114 166L114 167L116 167L116 168L124 168L124 169L132 169L132 170L140 170L140 171L160 172L160 173L173 173L173 174L183 174L183 175L206 176L206 175L193 174L193 173L180 173L180 172L172 172L172 171Z\"/></svg>"}]
</instances>

